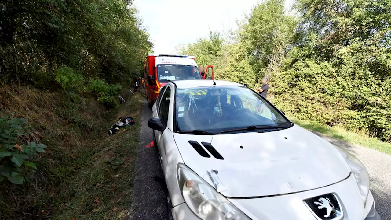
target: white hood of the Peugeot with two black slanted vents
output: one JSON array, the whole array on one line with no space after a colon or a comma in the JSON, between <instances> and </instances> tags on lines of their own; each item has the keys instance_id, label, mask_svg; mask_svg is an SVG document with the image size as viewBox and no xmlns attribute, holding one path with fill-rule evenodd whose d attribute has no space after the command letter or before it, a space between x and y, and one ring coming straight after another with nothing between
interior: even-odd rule
<instances>
[{"instance_id":1,"label":"white hood of the Peugeot with two black slanted vents","mask_svg":"<svg viewBox=\"0 0 391 220\"><path fill-rule=\"evenodd\" d=\"M174 133L184 163L213 186L217 171L226 197L289 194L325 187L346 178L350 168L339 151L315 134L294 125L273 132L220 135ZM203 157L193 143L210 143L224 159ZM212 153L211 153L212 152ZM204 155L205 156L205 155Z\"/></svg>"}]
</instances>

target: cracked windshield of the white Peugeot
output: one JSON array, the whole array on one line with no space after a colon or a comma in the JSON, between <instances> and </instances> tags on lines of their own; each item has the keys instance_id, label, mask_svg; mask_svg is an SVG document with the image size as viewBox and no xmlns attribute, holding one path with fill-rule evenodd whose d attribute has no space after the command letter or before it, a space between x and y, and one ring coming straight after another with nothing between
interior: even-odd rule
<instances>
[{"instance_id":1,"label":"cracked windshield of the white Peugeot","mask_svg":"<svg viewBox=\"0 0 391 220\"><path fill-rule=\"evenodd\" d=\"M267 132L292 126L274 106L245 86L177 88L175 108L176 130L183 133L246 132L247 128Z\"/></svg>"}]
</instances>

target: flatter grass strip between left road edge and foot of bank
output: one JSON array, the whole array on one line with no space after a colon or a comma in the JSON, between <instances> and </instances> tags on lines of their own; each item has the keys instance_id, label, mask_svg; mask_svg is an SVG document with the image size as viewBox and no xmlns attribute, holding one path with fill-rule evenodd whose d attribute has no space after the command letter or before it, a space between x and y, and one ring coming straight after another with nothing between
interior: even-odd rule
<instances>
[{"instance_id":1,"label":"flatter grass strip between left road edge and foot of bank","mask_svg":"<svg viewBox=\"0 0 391 220\"><path fill-rule=\"evenodd\" d=\"M70 180L74 197L62 204L53 219L124 219L131 203L134 153L138 146L141 95L134 95L115 118L131 116L136 124L94 140L96 153ZM112 124L111 123L111 124Z\"/></svg>"}]
</instances>

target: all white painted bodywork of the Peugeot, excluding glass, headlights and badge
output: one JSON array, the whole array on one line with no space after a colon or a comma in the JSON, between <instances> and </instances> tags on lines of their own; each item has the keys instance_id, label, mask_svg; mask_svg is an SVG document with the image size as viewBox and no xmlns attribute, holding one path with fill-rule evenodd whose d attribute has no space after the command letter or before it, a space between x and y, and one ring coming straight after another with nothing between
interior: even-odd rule
<instances>
[{"instance_id":1,"label":"all white painted bodywork of the Peugeot, excluding glass, headlights and badge","mask_svg":"<svg viewBox=\"0 0 391 220\"><path fill-rule=\"evenodd\" d=\"M178 84L183 88L196 84L208 86L208 81L212 80L191 81ZM170 99L174 100L176 86L174 83L166 86L170 86ZM158 117L159 104L152 107L152 117ZM173 132L173 109L171 101L167 127L163 134L154 130L154 137L174 220L199 219L187 206L179 189L176 174L179 163L186 164L211 186L207 171L219 171L217 176L227 188L221 194L253 220L316 220L303 199L327 193L339 197L344 220L380 220L371 192L364 208L356 180L349 174L350 167L332 144L315 134L298 125L265 133L178 134ZM201 157L188 143L190 140L211 143L224 160ZM368 216L368 213L373 215Z\"/></svg>"}]
</instances>

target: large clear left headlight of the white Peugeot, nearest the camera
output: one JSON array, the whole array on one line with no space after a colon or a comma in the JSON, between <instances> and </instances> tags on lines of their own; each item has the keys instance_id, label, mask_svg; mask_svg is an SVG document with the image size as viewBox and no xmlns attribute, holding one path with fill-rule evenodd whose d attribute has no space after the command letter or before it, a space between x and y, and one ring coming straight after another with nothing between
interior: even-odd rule
<instances>
[{"instance_id":1,"label":"large clear left headlight of the white Peugeot, nearest the camera","mask_svg":"<svg viewBox=\"0 0 391 220\"><path fill-rule=\"evenodd\" d=\"M202 220L250 220L185 164L178 164L177 174L183 199Z\"/></svg>"}]
</instances>

